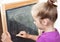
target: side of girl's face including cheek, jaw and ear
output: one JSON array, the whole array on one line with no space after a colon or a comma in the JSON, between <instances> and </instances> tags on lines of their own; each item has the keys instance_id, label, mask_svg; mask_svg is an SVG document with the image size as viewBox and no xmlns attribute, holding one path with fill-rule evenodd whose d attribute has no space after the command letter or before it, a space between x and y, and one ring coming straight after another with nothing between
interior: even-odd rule
<instances>
[{"instance_id":1,"label":"side of girl's face including cheek, jaw and ear","mask_svg":"<svg viewBox=\"0 0 60 42\"><path fill-rule=\"evenodd\" d=\"M41 19L41 17L36 15L32 15L32 17L34 19L34 24L38 27L38 29L44 30L46 27L53 25L53 22L48 18Z\"/></svg>"}]
</instances>

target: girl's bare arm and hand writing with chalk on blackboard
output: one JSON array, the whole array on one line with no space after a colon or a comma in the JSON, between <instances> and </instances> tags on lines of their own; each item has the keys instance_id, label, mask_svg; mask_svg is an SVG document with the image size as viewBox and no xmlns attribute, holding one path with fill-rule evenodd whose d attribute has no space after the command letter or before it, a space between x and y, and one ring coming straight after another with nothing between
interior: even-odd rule
<instances>
[{"instance_id":1,"label":"girl's bare arm and hand writing with chalk on blackboard","mask_svg":"<svg viewBox=\"0 0 60 42\"><path fill-rule=\"evenodd\" d=\"M41 31L39 30L39 35L41 35L40 32ZM25 31L21 31L16 36L23 37L23 38L28 38L28 39L32 39L32 40L36 41L39 35L31 35L31 34L26 33Z\"/></svg>"}]
</instances>

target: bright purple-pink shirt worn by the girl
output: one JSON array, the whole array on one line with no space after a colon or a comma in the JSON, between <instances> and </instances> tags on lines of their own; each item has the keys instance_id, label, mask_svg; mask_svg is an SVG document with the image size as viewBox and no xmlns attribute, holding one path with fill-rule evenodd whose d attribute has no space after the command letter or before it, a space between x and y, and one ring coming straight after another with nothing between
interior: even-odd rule
<instances>
[{"instance_id":1,"label":"bright purple-pink shirt worn by the girl","mask_svg":"<svg viewBox=\"0 0 60 42\"><path fill-rule=\"evenodd\" d=\"M60 42L59 32L56 30L53 32L42 33L36 42Z\"/></svg>"}]
</instances>

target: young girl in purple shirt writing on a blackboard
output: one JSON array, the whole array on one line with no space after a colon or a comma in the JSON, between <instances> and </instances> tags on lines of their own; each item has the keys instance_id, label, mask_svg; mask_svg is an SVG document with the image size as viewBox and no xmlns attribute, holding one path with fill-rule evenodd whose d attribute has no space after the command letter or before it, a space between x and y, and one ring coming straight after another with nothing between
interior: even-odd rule
<instances>
[{"instance_id":1,"label":"young girl in purple shirt writing on a blackboard","mask_svg":"<svg viewBox=\"0 0 60 42\"><path fill-rule=\"evenodd\" d=\"M34 23L38 29L43 30L42 34L36 36L30 35L25 31L21 31L16 36L33 39L36 40L36 42L60 42L60 35L57 29L54 28L54 23L57 19L57 6L53 4L54 2L54 0L48 0L45 3L37 3L32 8L32 17L34 19ZM3 34L6 36L6 38L9 38L8 40L10 42L12 42L9 33L7 33L8 35L6 33ZM3 42L4 35L2 35Z\"/></svg>"}]
</instances>

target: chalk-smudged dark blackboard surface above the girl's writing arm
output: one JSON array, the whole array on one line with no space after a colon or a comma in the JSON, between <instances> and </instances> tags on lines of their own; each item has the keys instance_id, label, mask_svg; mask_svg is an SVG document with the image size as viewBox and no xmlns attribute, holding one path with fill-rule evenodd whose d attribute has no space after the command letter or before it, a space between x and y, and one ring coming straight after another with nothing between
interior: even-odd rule
<instances>
[{"instance_id":1,"label":"chalk-smudged dark blackboard surface above the girl's writing arm","mask_svg":"<svg viewBox=\"0 0 60 42\"><path fill-rule=\"evenodd\" d=\"M34 4L6 10L7 26L11 35L15 36L20 31L38 35L37 27L33 23L31 15L31 8Z\"/></svg>"}]
</instances>

